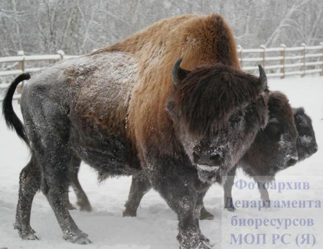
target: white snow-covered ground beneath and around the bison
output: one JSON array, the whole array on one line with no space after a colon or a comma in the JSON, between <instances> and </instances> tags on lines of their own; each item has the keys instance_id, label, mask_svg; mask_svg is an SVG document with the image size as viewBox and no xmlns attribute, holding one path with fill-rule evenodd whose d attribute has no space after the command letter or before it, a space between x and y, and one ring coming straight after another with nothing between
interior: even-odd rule
<instances>
[{"instance_id":1,"label":"white snow-covered ground beneath and around the bison","mask_svg":"<svg viewBox=\"0 0 323 249\"><path fill-rule=\"evenodd\" d=\"M275 198L294 200L300 196L306 197L306 200L321 200L323 77L270 79L268 85L271 90L281 90L286 93L293 107L305 108L306 113L313 120L318 144L318 152L315 155L277 175L277 181L307 181L310 183L311 191L286 190L278 193L276 190L270 190L270 195L273 200ZM15 110L20 114L17 103L15 103ZM31 226L40 240L21 240L13 229L13 223L18 200L19 173L29 160L29 151L14 132L7 130L3 119L0 121L0 141L0 248L178 248L177 217L157 192L151 190L143 197L137 217L123 218L122 211L128 197L131 178L109 179L98 184L96 174L85 164L81 166L79 179L94 210L90 213L72 211L71 214L78 226L88 233L93 243L76 245L64 241L58 222L42 193L36 194L31 213ZM241 171L238 172L236 179L250 181ZM257 190L241 191L234 188L233 196L236 200L259 199ZM72 203L76 202L73 191L71 191L71 200ZM231 230L237 229L228 224L233 215L264 218L266 214L271 214L284 218L284 215L288 214L297 218L299 214L299 210L296 209L288 209L288 212L286 209L267 209L259 212L248 208L237 210L234 214L223 211L223 190L219 185L214 185L208 191L204 203L206 208L216 215L216 219L212 221L200 222L202 232L216 244L214 248L244 247L230 245L228 234L233 232ZM317 213L316 211L317 209L302 209L305 217ZM315 233L315 231L318 231L317 225L316 228L310 227L308 232ZM323 235L317 232L315 236L316 244L313 248L323 248L321 241ZM265 248L281 247L273 244L267 246ZM297 248L297 246L290 248Z\"/></svg>"}]
</instances>

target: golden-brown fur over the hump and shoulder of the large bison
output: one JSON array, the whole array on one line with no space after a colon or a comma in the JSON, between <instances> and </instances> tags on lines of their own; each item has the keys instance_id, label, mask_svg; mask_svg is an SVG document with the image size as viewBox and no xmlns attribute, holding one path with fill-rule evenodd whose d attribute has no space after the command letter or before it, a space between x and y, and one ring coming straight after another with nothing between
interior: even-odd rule
<instances>
[{"instance_id":1,"label":"golden-brown fur over the hump and shoulder of the large bison","mask_svg":"<svg viewBox=\"0 0 323 249\"><path fill-rule=\"evenodd\" d=\"M240 67L232 31L223 17L216 14L161 20L94 54L113 51L130 53L139 62L140 83L135 86L129 108L129 137L141 146L158 143L162 151L164 144L174 144L165 104L174 89L170 72L177 59L183 57L181 67L187 70L219 62ZM169 153L174 156L177 149L170 146ZM143 159L140 148L138 151Z\"/></svg>"}]
</instances>

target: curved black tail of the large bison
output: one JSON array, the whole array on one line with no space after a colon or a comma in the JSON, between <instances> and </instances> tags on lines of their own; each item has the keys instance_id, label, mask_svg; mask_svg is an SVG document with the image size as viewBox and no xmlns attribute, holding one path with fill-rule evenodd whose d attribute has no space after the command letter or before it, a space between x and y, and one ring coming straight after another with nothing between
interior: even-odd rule
<instances>
[{"instance_id":1,"label":"curved black tail of the large bison","mask_svg":"<svg viewBox=\"0 0 323 249\"><path fill-rule=\"evenodd\" d=\"M4 98L2 112L5 116L6 124L9 129L15 130L18 136L23 139L28 145L29 141L26 135L25 127L17 117L14 108L12 106L12 99L17 88L17 85L23 81L30 79L29 73L23 73L19 75L9 86L6 96Z\"/></svg>"}]
</instances>

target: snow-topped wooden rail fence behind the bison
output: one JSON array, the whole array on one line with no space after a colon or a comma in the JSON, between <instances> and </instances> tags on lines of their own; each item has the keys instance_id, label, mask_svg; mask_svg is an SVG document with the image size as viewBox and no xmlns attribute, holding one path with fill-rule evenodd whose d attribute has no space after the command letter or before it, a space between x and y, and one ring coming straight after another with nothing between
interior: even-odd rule
<instances>
[{"instance_id":1,"label":"snow-topped wooden rail fence behind the bison","mask_svg":"<svg viewBox=\"0 0 323 249\"><path fill-rule=\"evenodd\" d=\"M94 49L95 51L95 49ZM301 46L287 47L281 44L280 47L265 47L260 45L259 48L242 48L238 45L237 48L239 61L244 71L254 72L258 69L257 64L262 65L266 70L267 77L281 77L289 75L300 75L303 77L306 74L319 73L323 76L323 42L315 46L306 46L302 43ZM316 53L314 53L316 52ZM59 50L56 55L25 55L23 51L19 51L17 56L0 58L2 63L18 63L18 69L0 71L0 77L12 76L23 72L36 72L43 67L25 67L26 62L49 61L57 62L63 59L76 58L79 56L65 55L62 50ZM9 84L0 84L1 88L8 87ZM18 93L21 92L21 87ZM19 99L20 94L16 94L14 99ZM0 101L3 98L0 96Z\"/></svg>"}]
</instances>

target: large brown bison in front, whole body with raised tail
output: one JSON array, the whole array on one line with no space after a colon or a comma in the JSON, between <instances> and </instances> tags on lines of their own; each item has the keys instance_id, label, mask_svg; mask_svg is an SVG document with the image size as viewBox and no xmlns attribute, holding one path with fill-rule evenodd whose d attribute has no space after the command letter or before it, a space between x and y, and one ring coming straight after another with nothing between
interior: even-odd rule
<instances>
[{"instance_id":1,"label":"large brown bison in front, whole body with raised tail","mask_svg":"<svg viewBox=\"0 0 323 249\"><path fill-rule=\"evenodd\" d=\"M100 178L145 175L176 212L180 244L209 247L198 222L204 194L265 127L267 81L260 66L260 77L238 69L232 33L220 16L185 18L34 75L21 97L25 126L11 102L29 76L12 83L3 112L32 154L20 177L15 228L21 237L36 238L29 219L40 188L64 238L90 242L65 202L69 165L84 160ZM172 22L180 24L167 28Z\"/></svg>"}]
</instances>

